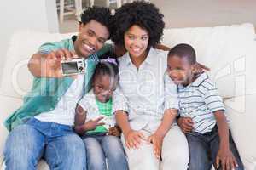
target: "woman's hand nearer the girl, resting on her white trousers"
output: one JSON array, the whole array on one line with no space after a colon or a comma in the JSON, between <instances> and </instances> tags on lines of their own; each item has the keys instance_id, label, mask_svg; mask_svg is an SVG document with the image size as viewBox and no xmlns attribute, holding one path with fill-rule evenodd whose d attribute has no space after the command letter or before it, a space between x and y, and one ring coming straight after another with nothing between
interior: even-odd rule
<instances>
[{"instance_id":1,"label":"woman's hand nearer the girl, resting on her white trousers","mask_svg":"<svg viewBox=\"0 0 256 170\"><path fill-rule=\"evenodd\" d=\"M145 140L143 133L140 133L135 130L130 130L125 135L125 145L126 147L131 149L137 149L139 145L142 143L142 140Z\"/></svg>"}]
</instances>

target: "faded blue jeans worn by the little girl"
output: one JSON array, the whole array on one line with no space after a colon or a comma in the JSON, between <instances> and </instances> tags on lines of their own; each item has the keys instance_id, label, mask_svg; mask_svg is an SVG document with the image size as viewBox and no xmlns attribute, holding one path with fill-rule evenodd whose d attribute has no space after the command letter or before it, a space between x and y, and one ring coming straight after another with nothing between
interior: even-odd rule
<instances>
[{"instance_id":1,"label":"faded blue jeans worn by the little girl","mask_svg":"<svg viewBox=\"0 0 256 170\"><path fill-rule=\"evenodd\" d=\"M84 135L88 170L128 170L120 138L105 134Z\"/></svg>"}]
</instances>

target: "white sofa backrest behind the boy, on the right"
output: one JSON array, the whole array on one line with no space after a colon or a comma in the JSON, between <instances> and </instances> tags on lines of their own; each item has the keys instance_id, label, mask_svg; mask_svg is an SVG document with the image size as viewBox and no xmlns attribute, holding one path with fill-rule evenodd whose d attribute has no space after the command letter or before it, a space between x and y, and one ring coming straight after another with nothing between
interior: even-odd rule
<instances>
[{"instance_id":1,"label":"white sofa backrest behind the boy, on the right","mask_svg":"<svg viewBox=\"0 0 256 170\"><path fill-rule=\"evenodd\" d=\"M178 28L166 29L163 43L169 47L177 43L191 44L197 60L211 68L208 74L217 83L221 96L228 98L236 95L234 72L245 69L254 37L251 24Z\"/></svg>"}]
</instances>

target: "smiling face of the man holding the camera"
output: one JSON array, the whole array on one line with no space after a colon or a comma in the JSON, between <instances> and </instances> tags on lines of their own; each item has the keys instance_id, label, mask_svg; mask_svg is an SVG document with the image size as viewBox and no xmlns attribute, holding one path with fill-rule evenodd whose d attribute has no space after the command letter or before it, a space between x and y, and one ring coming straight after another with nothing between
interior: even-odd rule
<instances>
[{"instance_id":1,"label":"smiling face of the man holding the camera","mask_svg":"<svg viewBox=\"0 0 256 170\"><path fill-rule=\"evenodd\" d=\"M108 37L108 28L96 20L90 20L85 25L81 24L78 38L74 43L75 52L79 57L87 58L101 49Z\"/></svg>"}]
</instances>

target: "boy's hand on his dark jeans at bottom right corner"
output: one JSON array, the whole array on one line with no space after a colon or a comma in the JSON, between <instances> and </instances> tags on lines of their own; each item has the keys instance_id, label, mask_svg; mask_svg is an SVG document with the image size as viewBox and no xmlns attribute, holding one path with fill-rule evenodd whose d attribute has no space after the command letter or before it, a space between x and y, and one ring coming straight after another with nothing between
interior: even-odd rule
<instances>
[{"instance_id":1,"label":"boy's hand on his dark jeans at bottom right corner","mask_svg":"<svg viewBox=\"0 0 256 170\"><path fill-rule=\"evenodd\" d=\"M238 167L235 156L229 149L219 149L216 157L216 167L221 163L222 170L233 170Z\"/></svg>"}]
</instances>

